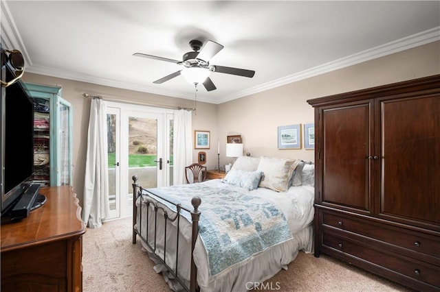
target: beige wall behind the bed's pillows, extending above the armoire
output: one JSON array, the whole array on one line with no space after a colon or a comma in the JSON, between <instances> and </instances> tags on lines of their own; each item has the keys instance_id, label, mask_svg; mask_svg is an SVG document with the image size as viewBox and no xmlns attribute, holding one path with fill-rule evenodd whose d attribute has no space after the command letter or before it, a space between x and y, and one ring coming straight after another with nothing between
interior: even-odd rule
<instances>
[{"instance_id":1,"label":"beige wall behind the bed's pillows, extending above the armoire","mask_svg":"<svg viewBox=\"0 0 440 292\"><path fill-rule=\"evenodd\" d=\"M314 109L307 99L439 74L439 52L440 42L432 42L220 104L220 141L241 134L245 152L251 156L314 160L314 151L304 147L278 149L278 126L314 122ZM221 158L221 164L231 161L225 151Z\"/></svg>"}]
</instances>

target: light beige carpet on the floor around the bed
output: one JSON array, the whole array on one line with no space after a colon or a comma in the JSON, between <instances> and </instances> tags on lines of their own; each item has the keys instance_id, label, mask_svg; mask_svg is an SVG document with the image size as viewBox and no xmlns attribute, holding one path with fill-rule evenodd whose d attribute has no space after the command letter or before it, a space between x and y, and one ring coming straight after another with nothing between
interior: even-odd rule
<instances>
[{"instance_id":1,"label":"light beige carpet on the floor around the bed","mask_svg":"<svg viewBox=\"0 0 440 292\"><path fill-rule=\"evenodd\" d=\"M410 291L339 260L300 252L255 291ZM83 291L170 291L139 239L131 243L131 218L108 221L83 236Z\"/></svg>"}]
</instances>

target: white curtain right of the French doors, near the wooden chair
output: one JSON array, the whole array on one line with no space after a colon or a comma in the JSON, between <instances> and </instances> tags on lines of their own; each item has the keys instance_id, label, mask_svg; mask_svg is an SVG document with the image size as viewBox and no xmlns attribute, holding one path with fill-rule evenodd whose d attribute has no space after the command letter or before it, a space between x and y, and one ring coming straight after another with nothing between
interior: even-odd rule
<instances>
[{"instance_id":1,"label":"white curtain right of the French doors, near the wooden chair","mask_svg":"<svg viewBox=\"0 0 440 292\"><path fill-rule=\"evenodd\" d=\"M185 167L192 163L192 112L176 110L174 113L173 181L184 184Z\"/></svg>"}]
</instances>

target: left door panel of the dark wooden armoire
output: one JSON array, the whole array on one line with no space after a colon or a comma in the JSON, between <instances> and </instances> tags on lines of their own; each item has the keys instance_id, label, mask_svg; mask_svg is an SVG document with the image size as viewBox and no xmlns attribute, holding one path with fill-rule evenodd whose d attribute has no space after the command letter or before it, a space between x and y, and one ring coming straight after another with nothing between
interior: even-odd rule
<instances>
[{"instance_id":1,"label":"left door panel of the dark wooden armoire","mask_svg":"<svg viewBox=\"0 0 440 292\"><path fill-rule=\"evenodd\" d=\"M370 115L370 104L323 110L323 202L370 210Z\"/></svg>"}]
</instances>

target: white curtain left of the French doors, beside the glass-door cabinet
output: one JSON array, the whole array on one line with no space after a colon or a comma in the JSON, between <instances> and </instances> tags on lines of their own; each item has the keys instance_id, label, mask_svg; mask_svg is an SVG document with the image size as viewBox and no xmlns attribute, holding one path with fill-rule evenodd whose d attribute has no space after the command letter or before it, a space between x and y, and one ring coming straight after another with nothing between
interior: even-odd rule
<instances>
[{"instance_id":1,"label":"white curtain left of the French doors, beside the glass-door cabinet","mask_svg":"<svg viewBox=\"0 0 440 292\"><path fill-rule=\"evenodd\" d=\"M83 221L98 228L109 215L107 111L102 99L91 100L85 164Z\"/></svg>"}]
</instances>

